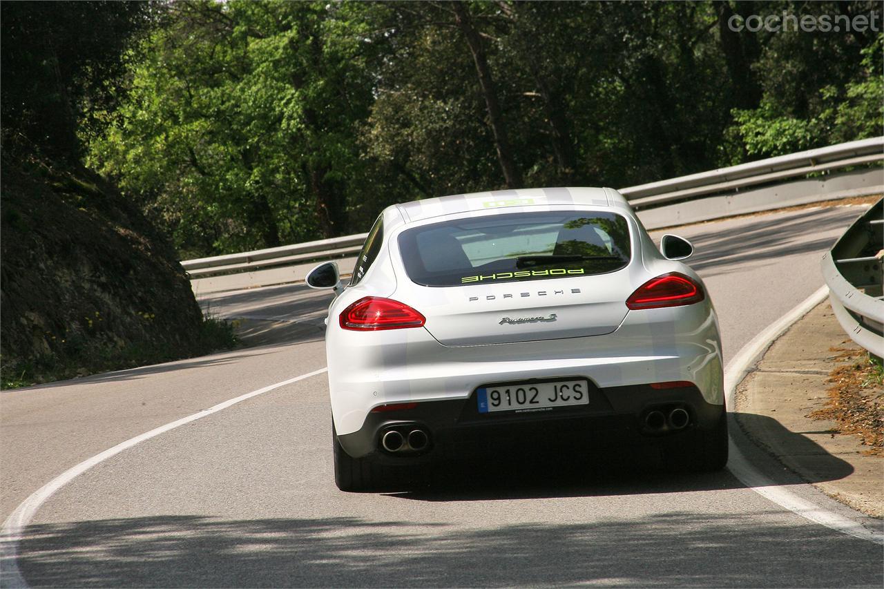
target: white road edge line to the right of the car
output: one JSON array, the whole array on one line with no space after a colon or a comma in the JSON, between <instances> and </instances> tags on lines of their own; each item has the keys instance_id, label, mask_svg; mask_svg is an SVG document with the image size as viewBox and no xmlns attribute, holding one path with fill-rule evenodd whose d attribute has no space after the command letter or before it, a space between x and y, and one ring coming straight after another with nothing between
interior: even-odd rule
<instances>
[{"instance_id":1,"label":"white road edge line to the right of the car","mask_svg":"<svg viewBox=\"0 0 884 589\"><path fill-rule=\"evenodd\" d=\"M765 331L758 333L728 363L728 367L724 372L724 390L726 402L731 411L736 409L736 387L749 374L752 366L765 353L766 349L770 347L773 340L776 340L782 333L785 333L792 324L801 317L804 317L820 302L825 301L827 296L828 287L819 288L817 292L804 299L804 302L799 303L795 309L780 317L773 325L767 327ZM728 470L736 478L739 478L743 485L751 488L752 491L799 516L855 538L870 540L876 544L884 544L884 534L869 530L862 524L854 522L847 517L840 516L819 505L814 505L810 501L805 501L784 486L777 486L773 480L756 470L746 460L746 457L735 446L733 440L730 441Z\"/></svg>"}]
</instances>

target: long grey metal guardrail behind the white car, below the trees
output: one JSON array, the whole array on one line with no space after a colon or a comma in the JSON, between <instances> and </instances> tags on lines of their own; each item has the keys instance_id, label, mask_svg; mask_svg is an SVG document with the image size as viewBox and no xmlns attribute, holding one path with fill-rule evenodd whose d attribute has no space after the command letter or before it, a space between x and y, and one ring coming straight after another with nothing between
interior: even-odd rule
<instances>
[{"instance_id":1,"label":"long grey metal guardrail behind the white car, below the trees","mask_svg":"<svg viewBox=\"0 0 884 589\"><path fill-rule=\"evenodd\" d=\"M641 210L676 201L735 192L743 187L771 184L812 172L826 172L881 160L884 160L884 136L621 188L620 192L626 196L633 208ZM185 260L181 265L191 278L200 278L215 274L251 272L274 266L320 262L354 256L359 252L366 235L367 233L359 233L227 256L202 257Z\"/></svg>"}]
</instances>

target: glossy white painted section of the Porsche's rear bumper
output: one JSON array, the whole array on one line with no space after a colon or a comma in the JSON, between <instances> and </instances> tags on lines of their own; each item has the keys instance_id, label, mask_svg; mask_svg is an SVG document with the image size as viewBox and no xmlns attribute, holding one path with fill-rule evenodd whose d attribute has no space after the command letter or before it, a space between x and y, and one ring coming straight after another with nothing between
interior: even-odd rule
<instances>
[{"instance_id":1,"label":"glossy white painted section of the Porsche's rear bumper","mask_svg":"<svg viewBox=\"0 0 884 589\"><path fill-rule=\"evenodd\" d=\"M724 402L718 325L707 302L629 311L607 335L460 348L441 345L425 329L343 333L330 325L326 348L331 413L341 435L358 432L379 405L460 407L476 387L502 380L575 377L606 391L687 380L705 402ZM614 412L625 412L617 395L609 396Z\"/></svg>"}]
</instances>

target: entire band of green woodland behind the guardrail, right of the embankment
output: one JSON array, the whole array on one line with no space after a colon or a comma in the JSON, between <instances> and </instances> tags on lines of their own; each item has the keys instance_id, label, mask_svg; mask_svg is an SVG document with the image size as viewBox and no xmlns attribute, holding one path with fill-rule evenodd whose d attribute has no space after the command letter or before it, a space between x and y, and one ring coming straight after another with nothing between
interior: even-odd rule
<instances>
[{"instance_id":1,"label":"entire band of green woodland behind the guardrail, right of the embankment","mask_svg":"<svg viewBox=\"0 0 884 589\"><path fill-rule=\"evenodd\" d=\"M182 257L308 241L505 187L507 158L629 186L880 134L880 34L727 26L875 6L171 3L84 136Z\"/></svg>"}]
</instances>

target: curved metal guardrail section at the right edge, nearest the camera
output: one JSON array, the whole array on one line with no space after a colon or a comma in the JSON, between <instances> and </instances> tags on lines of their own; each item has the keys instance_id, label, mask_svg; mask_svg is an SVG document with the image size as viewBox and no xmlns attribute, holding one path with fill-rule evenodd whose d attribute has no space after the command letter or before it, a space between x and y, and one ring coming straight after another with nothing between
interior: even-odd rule
<instances>
[{"instance_id":1,"label":"curved metal guardrail section at the right edge, nearest the camera","mask_svg":"<svg viewBox=\"0 0 884 589\"><path fill-rule=\"evenodd\" d=\"M829 302L844 331L874 356L884 356L884 199L857 218L821 266Z\"/></svg>"}]
</instances>

